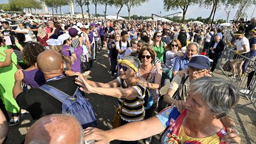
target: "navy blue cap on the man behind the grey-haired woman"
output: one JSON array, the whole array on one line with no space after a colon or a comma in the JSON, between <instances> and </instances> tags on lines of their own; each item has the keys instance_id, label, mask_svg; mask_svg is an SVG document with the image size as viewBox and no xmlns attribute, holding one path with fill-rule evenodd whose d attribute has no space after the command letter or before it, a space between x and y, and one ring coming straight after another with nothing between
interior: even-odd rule
<instances>
[{"instance_id":1,"label":"navy blue cap on the man behind the grey-haired woman","mask_svg":"<svg viewBox=\"0 0 256 144\"><path fill-rule=\"evenodd\" d=\"M213 62L213 60L209 59L209 57L203 55L196 55L192 57L189 63L185 63L185 65L197 69L209 69L210 62Z\"/></svg>"}]
</instances>

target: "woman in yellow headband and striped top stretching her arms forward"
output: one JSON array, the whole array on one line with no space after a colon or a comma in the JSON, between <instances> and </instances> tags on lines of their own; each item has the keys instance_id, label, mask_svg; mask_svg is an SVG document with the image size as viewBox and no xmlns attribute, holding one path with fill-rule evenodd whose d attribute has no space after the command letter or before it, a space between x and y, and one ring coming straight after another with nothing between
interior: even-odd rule
<instances>
[{"instance_id":1,"label":"woman in yellow headband and striped top stretching her arms forward","mask_svg":"<svg viewBox=\"0 0 256 144\"><path fill-rule=\"evenodd\" d=\"M107 83L89 81L84 76L76 78L76 84L81 85L81 90L86 93L95 93L119 98L121 109L121 125L144 119L145 107L150 93L146 87L138 84L140 78L137 72L140 61L135 56L127 56L119 60L120 76ZM123 108L121 108L123 105ZM137 143L125 142L121 143Z\"/></svg>"}]
</instances>

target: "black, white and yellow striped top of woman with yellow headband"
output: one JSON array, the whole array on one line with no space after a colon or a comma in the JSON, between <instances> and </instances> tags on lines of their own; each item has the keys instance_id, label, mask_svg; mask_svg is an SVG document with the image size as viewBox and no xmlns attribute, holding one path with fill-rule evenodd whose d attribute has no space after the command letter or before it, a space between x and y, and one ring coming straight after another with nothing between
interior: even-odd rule
<instances>
[{"instance_id":1,"label":"black, white and yellow striped top of woman with yellow headband","mask_svg":"<svg viewBox=\"0 0 256 144\"><path fill-rule=\"evenodd\" d=\"M120 77L117 78L120 80ZM127 88L127 85L124 81L121 81L121 87ZM147 103L145 103L144 98L149 97L150 93L147 88L142 85L135 84L132 88L135 88L138 92L139 96L136 98L119 98L119 108L123 104L123 108L121 109L121 119L132 122L132 121L140 121L144 119L145 109Z\"/></svg>"}]
</instances>

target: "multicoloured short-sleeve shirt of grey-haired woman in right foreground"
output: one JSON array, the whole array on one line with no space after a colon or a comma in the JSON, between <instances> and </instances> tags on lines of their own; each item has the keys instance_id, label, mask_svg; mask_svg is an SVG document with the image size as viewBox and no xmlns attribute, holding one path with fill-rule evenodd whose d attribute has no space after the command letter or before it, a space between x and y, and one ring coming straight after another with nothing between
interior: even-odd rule
<instances>
[{"instance_id":1,"label":"multicoloured short-sleeve shirt of grey-haired woman in right foreground","mask_svg":"<svg viewBox=\"0 0 256 144\"><path fill-rule=\"evenodd\" d=\"M162 134L161 143L222 143L220 137L226 135L225 127L220 129L219 132L212 136L203 138L194 138L187 136L183 129L183 119L187 114L187 110L184 110L181 114L177 108L167 107L156 115L162 125L166 128Z\"/></svg>"}]
</instances>

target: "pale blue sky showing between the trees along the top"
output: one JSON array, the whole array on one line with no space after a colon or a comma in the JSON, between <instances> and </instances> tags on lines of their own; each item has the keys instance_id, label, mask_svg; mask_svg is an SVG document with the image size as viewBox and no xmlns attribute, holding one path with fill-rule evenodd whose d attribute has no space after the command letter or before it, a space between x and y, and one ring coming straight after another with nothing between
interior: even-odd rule
<instances>
[{"instance_id":1,"label":"pale blue sky showing between the trees along the top","mask_svg":"<svg viewBox=\"0 0 256 144\"><path fill-rule=\"evenodd\" d=\"M8 0L1 0L0 4L7 3L7 2L8 2ZM98 14L103 14L104 9L105 8L104 8L103 5L98 5L97 6ZM226 12L225 12L224 9L226 9L226 11L231 11L230 15L229 15L229 20L232 20L236 11L237 11L237 9L238 9L238 7L228 8L228 9L225 8L225 7L218 8L217 11L216 11L215 19L217 18L217 19L226 20L227 15L226 15ZM49 8L48 10L51 11L51 8ZM84 11L86 11L86 10L87 10L87 7L84 7ZM89 10L90 10L90 13L94 14L95 13L94 5L90 5ZM248 18L249 19L251 18L253 10L254 10L254 5L251 8L249 8L249 12L248 12ZM59 11L59 9L58 9L58 11ZM118 11L118 8L107 7L107 14L108 15L116 15L117 11ZM172 14L174 12L180 12L180 11L182 12L181 9L177 9L175 11L165 11L163 1L161 1L161 0L149 0L148 2L145 2L141 6L132 8L131 9L131 15L136 14L136 15L151 16L152 13L160 15L160 11L161 11L162 15L168 15L168 14ZM198 5L190 6L190 7L188 7L186 18L197 18L197 17L207 18L210 15L210 11L211 11L211 9L200 8ZM69 12L69 7L68 6L62 7L62 12ZM81 12L81 8L77 7L76 4L75 4L75 12ZM121 9L120 15L121 16L127 16L128 15L126 6L124 6ZM254 12L254 17L255 16L256 16L256 11Z\"/></svg>"}]
</instances>

